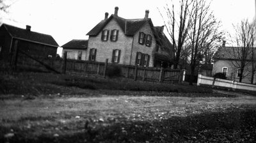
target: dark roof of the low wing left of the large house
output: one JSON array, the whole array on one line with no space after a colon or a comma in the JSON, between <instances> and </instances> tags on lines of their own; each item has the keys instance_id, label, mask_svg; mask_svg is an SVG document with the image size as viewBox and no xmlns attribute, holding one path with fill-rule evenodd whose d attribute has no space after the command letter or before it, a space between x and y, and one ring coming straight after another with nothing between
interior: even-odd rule
<instances>
[{"instance_id":1,"label":"dark roof of the low wing left of the large house","mask_svg":"<svg viewBox=\"0 0 256 143\"><path fill-rule=\"evenodd\" d=\"M62 45L63 49L84 49L88 47L88 40L71 40Z\"/></svg>"}]
</instances>

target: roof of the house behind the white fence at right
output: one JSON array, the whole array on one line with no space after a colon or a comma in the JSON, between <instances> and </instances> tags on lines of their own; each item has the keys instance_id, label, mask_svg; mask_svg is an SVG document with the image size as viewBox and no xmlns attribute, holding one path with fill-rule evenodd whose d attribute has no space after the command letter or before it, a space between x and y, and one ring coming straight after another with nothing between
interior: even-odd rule
<instances>
[{"instance_id":1,"label":"roof of the house behind the white fence at right","mask_svg":"<svg viewBox=\"0 0 256 143\"><path fill-rule=\"evenodd\" d=\"M242 56L241 51L242 51L242 47L220 47L215 52L212 59L239 60L241 59L241 56ZM254 50L254 52L256 52L256 49ZM252 54L252 52L248 52L248 54ZM248 60L251 59L251 55L247 56L247 59Z\"/></svg>"}]
</instances>

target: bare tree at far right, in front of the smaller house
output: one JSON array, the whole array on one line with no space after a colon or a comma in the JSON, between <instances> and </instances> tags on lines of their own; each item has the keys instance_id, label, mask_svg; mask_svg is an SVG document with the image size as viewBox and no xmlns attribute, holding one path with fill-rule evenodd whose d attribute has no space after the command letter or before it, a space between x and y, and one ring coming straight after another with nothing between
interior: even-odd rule
<instances>
[{"instance_id":1,"label":"bare tree at far right, in front of the smaller house","mask_svg":"<svg viewBox=\"0 0 256 143\"><path fill-rule=\"evenodd\" d=\"M242 20L240 24L234 26L236 34L230 36L232 43L236 43L236 46L232 47L231 56L236 59L232 61L235 68L239 69L239 82L242 82L243 78L246 77L249 72L244 73L244 70L250 63L252 63L252 75L254 76L254 48L253 42L255 40L254 26L248 20ZM246 69L248 70L248 68ZM252 81L253 82L253 77Z\"/></svg>"}]
</instances>

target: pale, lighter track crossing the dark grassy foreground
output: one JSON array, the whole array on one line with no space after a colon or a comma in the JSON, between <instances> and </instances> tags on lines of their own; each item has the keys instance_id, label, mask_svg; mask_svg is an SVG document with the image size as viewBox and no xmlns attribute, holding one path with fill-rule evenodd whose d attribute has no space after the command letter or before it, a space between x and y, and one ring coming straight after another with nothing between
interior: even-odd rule
<instances>
[{"instance_id":1,"label":"pale, lighter track crossing the dark grassy foreground","mask_svg":"<svg viewBox=\"0 0 256 143\"><path fill-rule=\"evenodd\" d=\"M176 119L175 117L225 113L230 112L230 110L234 112L238 112L237 110L239 110L239 112L245 112L249 109L255 111L256 107L256 97L241 94L238 94L237 97L234 98L104 96L103 94L100 94L99 96L100 97L95 98L54 97L35 98L34 100L24 100L22 98L3 100L0 104L0 139L6 140L6 138L3 137L4 135L7 135L7 133L14 133L15 136L11 137L10 140L24 141L24 139L28 139L37 142L38 139L44 138L49 139L52 142L54 140L58 141L58 137L60 137L60 139L63 137L63 139L67 138L67 140L83 139L97 142L106 140L106 137L108 138L109 135L113 134L119 138L115 139L113 136L113 139L108 139L109 142L112 142L113 140L116 142L119 142L120 140L130 142L131 140L126 140L126 136L123 137L119 134L121 133L129 137L133 132L137 132L137 130L134 131L134 128L137 128L139 125L141 126L141 130L138 130L138 132L143 133L140 134L143 136L145 135L143 131L145 128L143 129L142 127L143 124L146 124L147 128L150 129L153 128L150 127L150 124L169 123L169 120ZM223 114L223 116L224 115L225 114ZM84 127L86 122L89 123L90 127L88 128L90 130L94 130L98 133L89 133L88 128L86 129ZM135 127L129 125L134 123L139 125L137 127L135 125ZM184 124L184 126L185 125L186 124ZM107 131L100 132L101 130ZM155 130L156 129L152 129L152 131ZM163 128L159 130L163 130ZM164 128L163 132L170 132L170 130L165 130ZM177 130L177 132L180 131ZM151 140L160 141L158 138L153 138L155 134L150 133L148 135L150 135ZM171 140L166 136L166 133L161 135L163 135L165 140ZM191 138L191 134L189 135L188 137ZM76 139L75 136L78 137L78 139ZM156 137L158 136L159 135L156 134ZM73 139L74 137L75 139ZM124 139L120 137L123 137ZM135 136L130 138L135 141L137 140L138 142L145 142L148 139L148 137L145 137L145 139L137 139L133 137ZM177 135L177 137L179 140L179 135ZM182 139L186 140L186 138ZM62 141L65 142L65 140Z\"/></svg>"}]
</instances>

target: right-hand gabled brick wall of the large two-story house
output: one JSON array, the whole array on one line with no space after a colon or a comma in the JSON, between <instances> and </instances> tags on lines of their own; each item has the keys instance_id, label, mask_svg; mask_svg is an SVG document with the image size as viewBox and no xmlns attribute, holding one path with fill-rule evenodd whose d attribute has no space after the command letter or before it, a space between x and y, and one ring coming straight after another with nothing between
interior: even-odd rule
<instances>
[{"instance_id":1,"label":"right-hand gabled brick wall of the large two-story house","mask_svg":"<svg viewBox=\"0 0 256 143\"><path fill-rule=\"evenodd\" d=\"M145 45L145 43L143 45L141 45L139 43L139 36L140 36L140 32L143 32L145 34L150 34L152 36L152 45L150 47L147 47ZM134 34L134 42L132 45L132 55L131 55L131 65L134 65L136 62L136 53L137 52L141 52L143 54L148 54L150 55L150 61L148 66L152 67L154 64L154 60L153 60L153 50L156 47L156 38L154 37L154 34L152 32L152 29L150 27L150 25L148 24L148 22L141 27L140 30L137 31L136 34Z\"/></svg>"}]
</instances>

